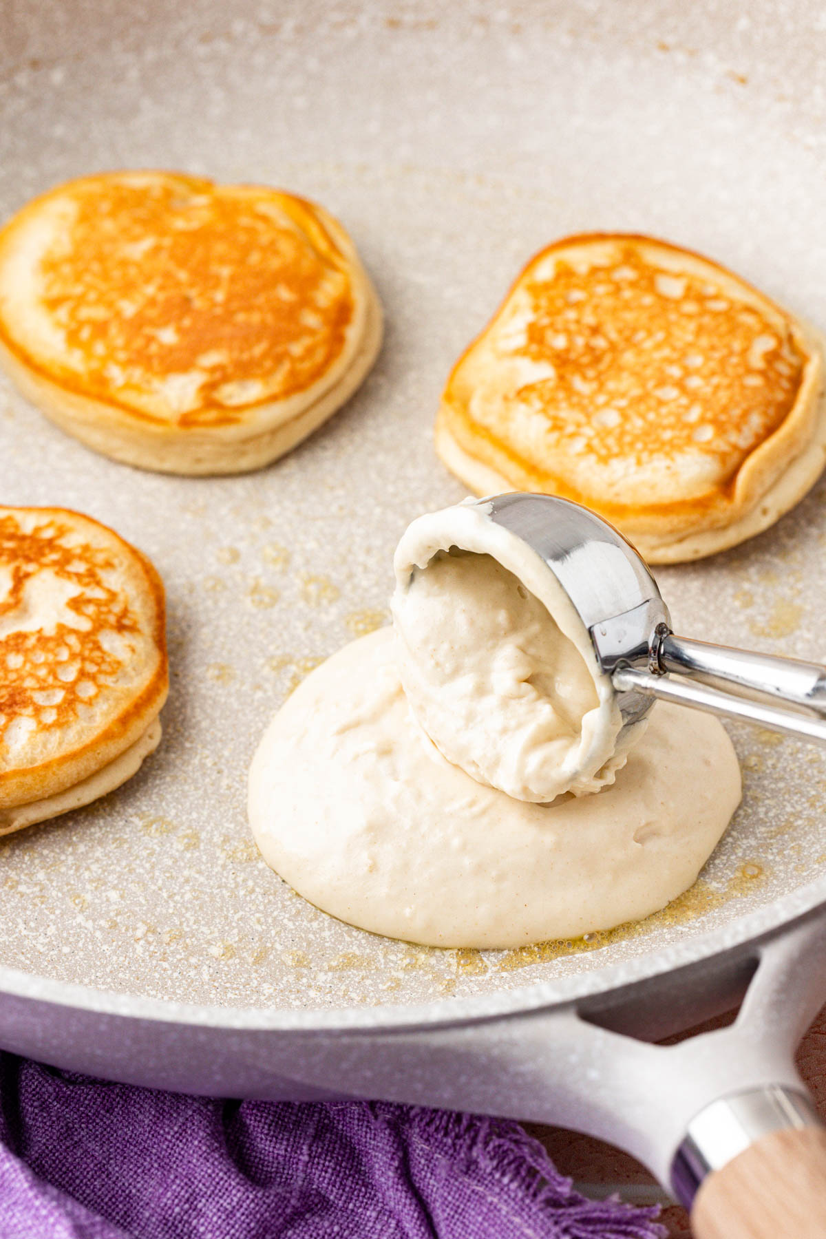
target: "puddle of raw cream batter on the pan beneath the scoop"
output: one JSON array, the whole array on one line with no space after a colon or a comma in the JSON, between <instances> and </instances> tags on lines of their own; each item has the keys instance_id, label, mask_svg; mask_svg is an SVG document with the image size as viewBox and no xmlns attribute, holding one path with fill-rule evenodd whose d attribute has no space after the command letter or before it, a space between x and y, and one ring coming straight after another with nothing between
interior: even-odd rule
<instances>
[{"instance_id":1,"label":"puddle of raw cream batter on the pan beneath the scoop","mask_svg":"<svg viewBox=\"0 0 826 1239\"><path fill-rule=\"evenodd\" d=\"M437 947L516 947L661 908L696 878L741 797L710 715L658 704L612 787L528 804L452 766L414 721L394 636L315 670L253 761L265 860L326 912Z\"/></svg>"}]
</instances>

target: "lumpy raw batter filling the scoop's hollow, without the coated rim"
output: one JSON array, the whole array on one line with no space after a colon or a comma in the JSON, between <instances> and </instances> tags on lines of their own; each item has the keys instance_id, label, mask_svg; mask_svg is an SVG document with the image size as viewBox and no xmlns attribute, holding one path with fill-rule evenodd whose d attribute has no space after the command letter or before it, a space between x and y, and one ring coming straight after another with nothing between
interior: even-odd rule
<instances>
[{"instance_id":1,"label":"lumpy raw batter filling the scoop's hollow, without the coated rim","mask_svg":"<svg viewBox=\"0 0 826 1239\"><path fill-rule=\"evenodd\" d=\"M490 555L438 551L394 616L410 709L448 761L518 800L597 789L567 774L596 685L513 572Z\"/></svg>"}]
</instances>

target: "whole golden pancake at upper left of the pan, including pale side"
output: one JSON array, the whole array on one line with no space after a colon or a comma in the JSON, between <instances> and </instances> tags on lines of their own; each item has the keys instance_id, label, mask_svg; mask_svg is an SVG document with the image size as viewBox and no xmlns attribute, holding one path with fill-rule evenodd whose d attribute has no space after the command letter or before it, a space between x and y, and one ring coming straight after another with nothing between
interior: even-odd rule
<instances>
[{"instance_id":1,"label":"whole golden pancake at upper left of the pan, including pale side","mask_svg":"<svg viewBox=\"0 0 826 1239\"><path fill-rule=\"evenodd\" d=\"M263 186L105 172L0 230L0 362L115 460L256 468L360 384L381 311L321 207Z\"/></svg>"}]
</instances>

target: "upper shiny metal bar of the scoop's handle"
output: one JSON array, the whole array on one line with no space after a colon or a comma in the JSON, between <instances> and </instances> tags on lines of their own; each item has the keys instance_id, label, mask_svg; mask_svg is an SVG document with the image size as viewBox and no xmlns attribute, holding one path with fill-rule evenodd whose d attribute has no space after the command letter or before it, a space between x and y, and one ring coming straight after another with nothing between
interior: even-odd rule
<instances>
[{"instance_id":1,"label":"upper shiny metal bar of the scoop's handle","mask_svg":"<svg viewBox=\"0 0 826 1239\"><path fill-rule=\"evenodd\" d=\"M826 667L819 663L691 641L672 632L663 636L656 657L663 672L676 672L723 691L758 694L826 717Z\"/></svg>"}]
</instances>

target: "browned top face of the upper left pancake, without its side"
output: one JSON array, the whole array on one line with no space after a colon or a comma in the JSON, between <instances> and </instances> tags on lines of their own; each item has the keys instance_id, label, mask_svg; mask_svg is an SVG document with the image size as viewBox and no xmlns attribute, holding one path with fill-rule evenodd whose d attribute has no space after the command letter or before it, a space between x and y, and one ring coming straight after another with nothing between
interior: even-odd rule
<instances>
[{"instance_id":1,"label":"browned top face of the upper left pancake, without its side","mask_svg":"<svg viewBox=\"0 0 826 1239\"><path fill-rule=\"evenodd\" d=\"M42 224L41 224L42 221ZM80 395L177 426L222 426L317 384L341 357L354 297L321 213L292 195L172 173L103 173L9 224L33 244L32 301L6 347Z\"/></svg>"}]
</instances>

